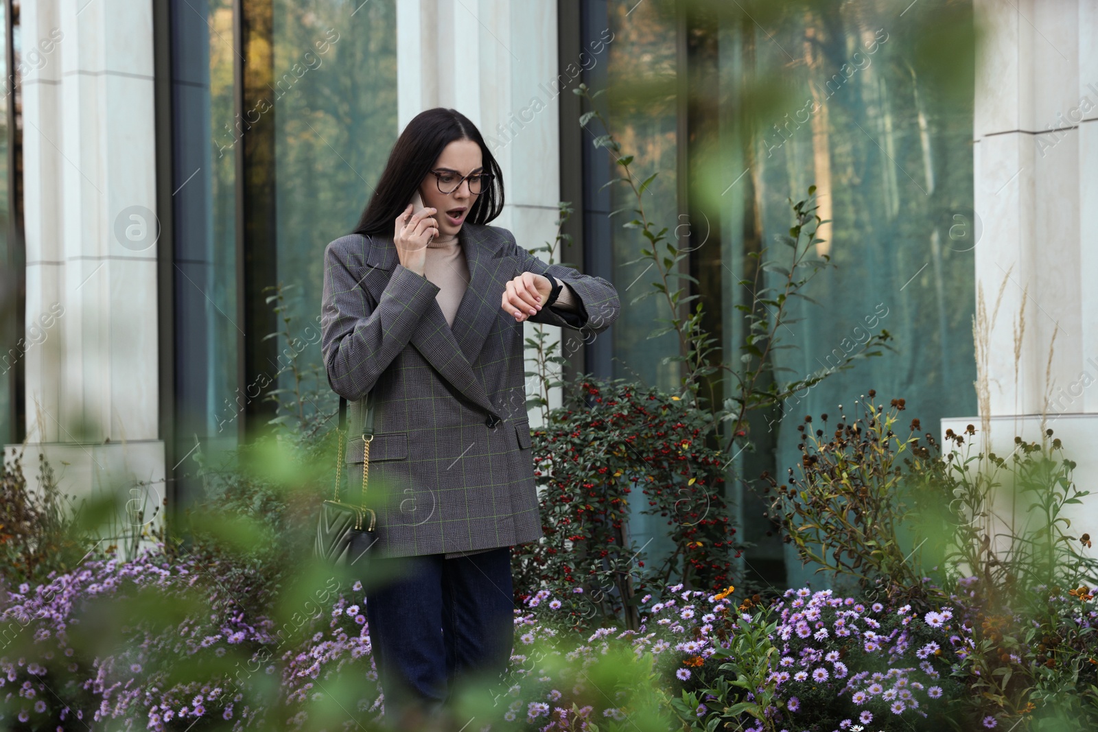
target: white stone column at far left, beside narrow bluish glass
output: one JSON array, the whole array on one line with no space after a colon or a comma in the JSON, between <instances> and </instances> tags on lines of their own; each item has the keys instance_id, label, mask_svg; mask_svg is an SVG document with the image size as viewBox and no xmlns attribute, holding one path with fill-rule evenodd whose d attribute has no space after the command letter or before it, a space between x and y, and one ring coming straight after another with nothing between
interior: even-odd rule
<instances>
[{"instance_id":1,"label":"white stone column at far left, beside narrow bluish glass","mask_svg":"<svg viewBox=\"0 0 1098 732\"><path fill-rule=\"evenodd\" d=\"M42 0L21 23L26 327L46 334L25 354L24 469L36 483L44 453L64 493L121 492L143 526L164 496L153 7Z\"/></svg>"}]
</instances>

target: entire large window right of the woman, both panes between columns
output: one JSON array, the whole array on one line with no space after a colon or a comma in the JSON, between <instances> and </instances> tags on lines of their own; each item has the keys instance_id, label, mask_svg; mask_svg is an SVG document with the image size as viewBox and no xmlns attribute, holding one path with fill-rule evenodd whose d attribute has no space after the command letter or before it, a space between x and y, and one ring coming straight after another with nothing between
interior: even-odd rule
<instances>
[{"instance_id":1,"label":"entire large window right of the woman, both panes between columns","mask_svg":"<svg viewBox=\"0 0 1098 732\"><path fill-rule=\"evenodd\" d=\"M934 18L956 5L931 0L909 18ZM597 15L603 4L590 0L585 7ZM753 275L750 255L782 247L775 236L792 225L788 199L805 198L809 185L818 189L819 214L831 219L821 227L827 241L820 251L837 269L821 272L806 290L818 305L794 302L788 318L800 320L780 333L782 345L793 348L772 353L763 379L787 383L833 367L870 333L887 329L895 338L895 352L834 372L782 410L753 415L758 451L738 459L739 475L751 483L763 470L784 475L799 462L796 427L804 417L827 413L833 425L838 406L849 414L870 388L885 404L906 399L905 414L919 417L923 431L937 433L942 417L975 414L971 237L952 236L959 221L972 223L971 75L944 87L933 74L941 69L928 69L910 40L889 35L892 10L870 2L775 5L760 22L735 3L609 0L605 7L614 32L607 77L596 70L587 78L595 89L610 90L612 132L624 154L636 156L634 177L659 172L643 196L657 229L666 226L673 235L686 221L691 235L705 239L690 241L691 273L709 308L706 325L722 339L724 360L739 363L743 318L735 306L750 303L740 284ZM601 30L589 22L585 33L594 37ZM653 83L630 83L638 76ZM646 87L648 93L638 92ZM688 99L676 103L685 89ZM589 172L596 168L589 162ZM627 188L615 183L610 190L610 211L634 207ZM659 364L677 352L673 335L647 339L666 317L665 302L630 302L651 289L652 278L646 263L625 263L640 257L645 239L621 228L623 216L615 216L609 235L623 303L613 374L674 388L676 364ZM589 247L602 243L587 239ZM739 538L752 544L743 570L763 581L808 581L810 572L785 554L776 536L766 536L771 527L759 498L736 491ZM643 543L650 527L643 517L634 522Z\"/></svg>"}]
</instances>

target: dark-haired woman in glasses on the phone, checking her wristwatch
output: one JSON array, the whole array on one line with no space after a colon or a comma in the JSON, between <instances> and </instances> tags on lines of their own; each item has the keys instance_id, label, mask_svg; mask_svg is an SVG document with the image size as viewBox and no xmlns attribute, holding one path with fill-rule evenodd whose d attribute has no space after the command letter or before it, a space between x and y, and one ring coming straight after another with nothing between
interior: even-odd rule
<instances>
[{"instance_id":1,"label":"dark-haired woman in glasses on the phone, checking her wristwatch","mask_svg":"<svg viewBox=\"0 0 1098 732\"><path fill-rule=\"evenodd\" d=\"M425 207L413 213L416 193ZM384 581L367 587L367 612L399 724L511 655L511 547L541 537L523 323L586 339L619 309L606 280L547 266L489 226L503 200L472 122L427 110L396 140L356 232L325 250L322 350L350 405L351 475L368 393L374 405L371 578Z\"/></svg>"}]
</instances>

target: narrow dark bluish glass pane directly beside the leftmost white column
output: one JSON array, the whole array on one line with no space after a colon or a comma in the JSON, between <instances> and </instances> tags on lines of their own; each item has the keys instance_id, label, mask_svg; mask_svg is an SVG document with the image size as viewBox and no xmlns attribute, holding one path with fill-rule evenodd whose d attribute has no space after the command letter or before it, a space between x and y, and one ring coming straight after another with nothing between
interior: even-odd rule
<instances>
[{"instance_id":1,"label":"narrow dark bluish glass pane directly beside the leftmost white column","mask_svg":"<svg viewBox=\"0 0 1098 732\"><path fill-rule=\"evenodd\" d=\"M233 0L172 3L176 455L236 446L236 119ZM181 469L186 470L186 469Z\"/></svg>"}]
</instances>

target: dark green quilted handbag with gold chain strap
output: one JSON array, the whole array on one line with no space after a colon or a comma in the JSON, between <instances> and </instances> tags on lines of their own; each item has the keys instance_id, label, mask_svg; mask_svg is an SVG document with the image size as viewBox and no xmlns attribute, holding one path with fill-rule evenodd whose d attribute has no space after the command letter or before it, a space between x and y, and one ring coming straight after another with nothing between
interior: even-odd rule
<instances>
[{"instance_id":1,"label":"dark green quilted handbag with gold chain strap","mask_svg":"<svg viewBox=\"0 0 1098 732\"><path fill-rule=\"evenodd\" d=\"M367 396L366 421L362 426L362 493L358 504L339 498L344 463L344 437L347 421L347 399L339 397L339 426L336 428L336 483L332 497L321 504L314 553L335 566L360 568L378 537L378 516L366 507L366 487L370 474L370 442L373 440L373 394ZM349 443L350 437L346 436ZM348 481L349 482L349 481ZM348 486L349 487L349 486Z\"/></svg>"}]
</instances>

